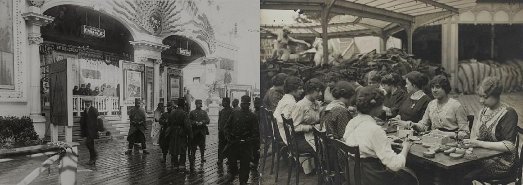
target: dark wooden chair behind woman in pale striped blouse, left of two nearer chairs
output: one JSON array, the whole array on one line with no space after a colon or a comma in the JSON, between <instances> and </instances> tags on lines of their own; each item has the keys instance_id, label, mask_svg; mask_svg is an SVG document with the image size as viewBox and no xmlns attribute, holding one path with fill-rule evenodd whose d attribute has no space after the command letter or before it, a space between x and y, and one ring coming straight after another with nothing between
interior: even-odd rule
<instances>
[{"instance_id":1,"label":"dark wooden chair behind woman in pale striped blouse, left of two nearer chairs","mask_svg":"<svg viewBox=\"0 0 523 185\"><path fill-rule=\"evenodd\" d=\"M302 163L300 163L300 157L304 157L305 160L308 160L310 158L315 158L316 154L301 153L300 151L298 151L298 142L296 142L294 122L292 121L292 119L285 118L283 114L281 114L281 118L283 119L283 130L285 131L285 137L287 138L287 145L289 146L289 174L287 175L287 184L291 183L292 163L295 162L294 167L296 169L296 184L298 185L300 181L300 169L302 165Z\"/></svg>"}]
</instances>

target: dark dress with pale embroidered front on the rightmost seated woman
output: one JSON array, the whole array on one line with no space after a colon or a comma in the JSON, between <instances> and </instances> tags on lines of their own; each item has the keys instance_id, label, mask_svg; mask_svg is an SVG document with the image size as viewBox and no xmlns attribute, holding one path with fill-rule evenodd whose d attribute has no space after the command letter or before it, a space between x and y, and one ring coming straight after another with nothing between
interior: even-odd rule
<instances>
[{"instance_id":1,"label":"dark dress with pale embroidered front on the rightmost seated woman","mask_svg":"<svg viewBox=\"0 0 523 185\"><path fill-rule=\"evenodd\" d=\"M518 155L515 144L516 137L518 137L516 134L518 114L516 111L505 103L502 103L501 107L491 114L486 114L487 109L487 107L483 107L480 110L479 119L474 124L473 130L477 133L477 140L501 141L507 147L508 152L480 162L477 168L467 175L467 178L475 180L495 179L507 175Z\"/></svg>"}]
</instances>

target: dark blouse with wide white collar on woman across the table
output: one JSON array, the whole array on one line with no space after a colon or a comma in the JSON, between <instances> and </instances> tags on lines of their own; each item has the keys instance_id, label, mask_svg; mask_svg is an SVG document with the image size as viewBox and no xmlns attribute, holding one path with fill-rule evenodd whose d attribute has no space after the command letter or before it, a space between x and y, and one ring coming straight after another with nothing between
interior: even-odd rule
<instances>
[{"instance_id":1,"label":"dark blouse with wide white collar on woman across the table","mask_svg":"<svg viewBox=\"0 0 523 185\"><path fill-rule=\"evenodd\" d=\"M401 116L401 119L404 121L419 122L422 120L423 115L425 114L425 109L427 109L430 101L430 97L428 97L422 90L413 93L410 97L405 98L405 101L400 106L399 115Z\"/></svg>"}]
</instances>

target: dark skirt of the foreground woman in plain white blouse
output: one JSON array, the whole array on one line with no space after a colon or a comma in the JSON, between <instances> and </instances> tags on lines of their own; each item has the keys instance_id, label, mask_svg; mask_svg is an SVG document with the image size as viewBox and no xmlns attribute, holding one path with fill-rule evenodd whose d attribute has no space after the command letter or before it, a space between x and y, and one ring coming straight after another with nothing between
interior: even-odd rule
<instances>
[{"instance_id":1,"label":"dark skirt of the foreground woman in plain white blouse","mask_svg":"<svg viewBox=\"0 0 523 185\"><path fill-rule=\"evenodd\" d=\"M350 184L355 184L355 166L355 162L349 159ZM379 158L361 158L361 184L417 184L417 179L404 170L389 170Z\"/></svg>"}]
</instances>

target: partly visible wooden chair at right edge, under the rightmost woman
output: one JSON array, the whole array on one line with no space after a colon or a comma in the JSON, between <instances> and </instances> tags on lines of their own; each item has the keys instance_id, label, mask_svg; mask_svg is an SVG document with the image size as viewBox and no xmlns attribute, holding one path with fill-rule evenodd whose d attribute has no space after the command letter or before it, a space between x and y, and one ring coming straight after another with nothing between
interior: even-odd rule
<instances>
[{"instance_id":1,"label":"partly visible wooden chair at right edge, under the rightmost woman","mask_svg":"<svg viewBox=\"0 0 523 185\"><path fill-rule=\"evenodd\" d=\"M519 137L521 134L523 134L523 128L517 126L516 127L516 151L519 152L519 160L516 160L514 163L513 170L510 171L510 174L508 174L506 177L501 179L493 179L488 180L484 182L480 182L481 184L485 185L485 183L488 184L509 184L515 182L516 185L521 185L521 172L523 172L523 151L519 151ZM523 149L522 149L523 150Z\"/></svg>"}]
</instances>

